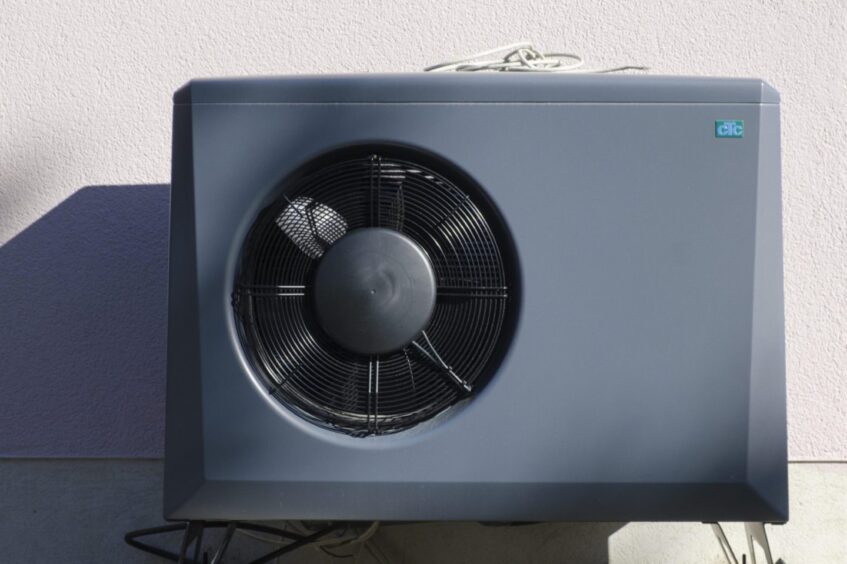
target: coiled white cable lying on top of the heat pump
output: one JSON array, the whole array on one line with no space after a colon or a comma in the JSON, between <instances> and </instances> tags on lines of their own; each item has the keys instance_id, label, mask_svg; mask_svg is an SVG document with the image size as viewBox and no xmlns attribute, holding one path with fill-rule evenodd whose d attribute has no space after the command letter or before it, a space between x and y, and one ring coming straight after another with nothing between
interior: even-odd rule
<instances>
[{"instance_id":1,"label":"coiled white cable lying on top of the heat pump","mask_svg":"<svg viewBox=\"0 0 847 564\"><path fill-rule=\"evenodd\" d=\"M502 57L489 58L502 53ZM531 43L521 42L482 51L455 61L439 63L424 69L426 72L546 72L546 73L608 73L625 70L647 70L648 67L620 67L584 70L585 61L576 53L542 53Z\"/></svg>"}]
</instances>

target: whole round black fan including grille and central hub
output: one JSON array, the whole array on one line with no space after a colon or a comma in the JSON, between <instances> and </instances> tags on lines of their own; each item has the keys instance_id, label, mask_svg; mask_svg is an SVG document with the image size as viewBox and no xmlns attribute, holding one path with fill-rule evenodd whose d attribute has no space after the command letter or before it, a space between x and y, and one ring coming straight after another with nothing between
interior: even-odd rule
<instances>
[{"instance_id":1,"label":"whole round black fan including grille and central hub","mask_svg":"<svg viewBox=\"0 0 847 564\"><path fill-rule=\"evenodd\" d=\"M354 436L472 397L511 337L517 276L499 214L429 155L362 147L307 165L258 215L233 307L269 392Z\"/></svg>"}]
</instances>

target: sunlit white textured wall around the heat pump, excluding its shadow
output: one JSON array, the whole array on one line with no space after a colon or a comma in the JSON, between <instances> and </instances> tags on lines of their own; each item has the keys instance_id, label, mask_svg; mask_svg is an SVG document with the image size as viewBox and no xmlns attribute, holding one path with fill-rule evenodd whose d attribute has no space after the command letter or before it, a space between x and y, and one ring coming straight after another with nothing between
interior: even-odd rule
<instances>
[{"instance_id":1,"label":"sunlit white textured wall around the heat pump, excluding its shadow","mask_svg":"<svg viewBox=\"0 0 847 564\"><path fill-rule=\"evenodd\" d=\"M589 65L756 76L780 90L790 457L847 461L842 0L0 0L0 245L83 186L167 182L170 96L189 78L413 71L519 39ZM815 554L828 556L804 558L811 541L795 535L794 562L845 558L834 539L847 508L830 494L847 479L817 466L792 481L792 507L809 520L797 530L822 516ZM658 549L668 530L639 530L613 535L629 555L619 561L683 561Z\"/></svg>"}]
</instances>

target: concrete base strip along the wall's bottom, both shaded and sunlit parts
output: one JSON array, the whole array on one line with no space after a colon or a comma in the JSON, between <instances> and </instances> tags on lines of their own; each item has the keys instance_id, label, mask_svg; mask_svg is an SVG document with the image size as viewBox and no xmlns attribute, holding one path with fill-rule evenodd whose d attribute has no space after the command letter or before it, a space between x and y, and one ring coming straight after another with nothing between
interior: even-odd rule
<instances>
[{"instance_id":1,"label":"concrete base strip along the wall's bottom, both shaded and sunlit parts","mask_svg":"<svg viewBox=\"0 0 847 564\"><path fill-rule=\"evenodd\" d=\"M789 465L791 521L769 527L771 546L788 564L847 561L847 463ZM162 522L161 460L0 459L0 546L5 562L158 563L127 547L125 532ZM727 535L736 552L740 524ZM175 548L177 539L165 540ZM708 527L697 523L477 523L390 525L374 537L392 563L724 564ZM267 547L239 536L233 562ZM374 562L366 553L358 564ZM739 555L740 556L740 555ZM331 563L313 548L284 562Z\"/></svg>"}]
</instances>

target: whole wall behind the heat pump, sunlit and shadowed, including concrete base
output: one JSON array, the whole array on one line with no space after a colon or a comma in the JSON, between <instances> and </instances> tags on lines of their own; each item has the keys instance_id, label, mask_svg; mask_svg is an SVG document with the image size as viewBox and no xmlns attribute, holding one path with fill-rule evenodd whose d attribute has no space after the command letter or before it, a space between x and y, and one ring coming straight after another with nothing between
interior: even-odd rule
<instances>
[{"instance_id":1,"label":"whole wall behind the heat pump, sunlit and shadowed, including concrete base","mask_svg":"<svg viewBox=\"0 0 847 564\"><path fill-rule=\"evenodd\" d=\"M755 76L781 92L798 462L791 522L771 534L789 563L845 561L841 0L0 0L0 560L154 561L121 536L161 514L161 462L150 459L162 453L176 88L202 76L416 71L522 39L582 53L589 67ZM25 458L63 456L103 459ZM376 542L406 563L722 561L696 524L420 525L386 527Z\"/></svg>"}]
</instances>

